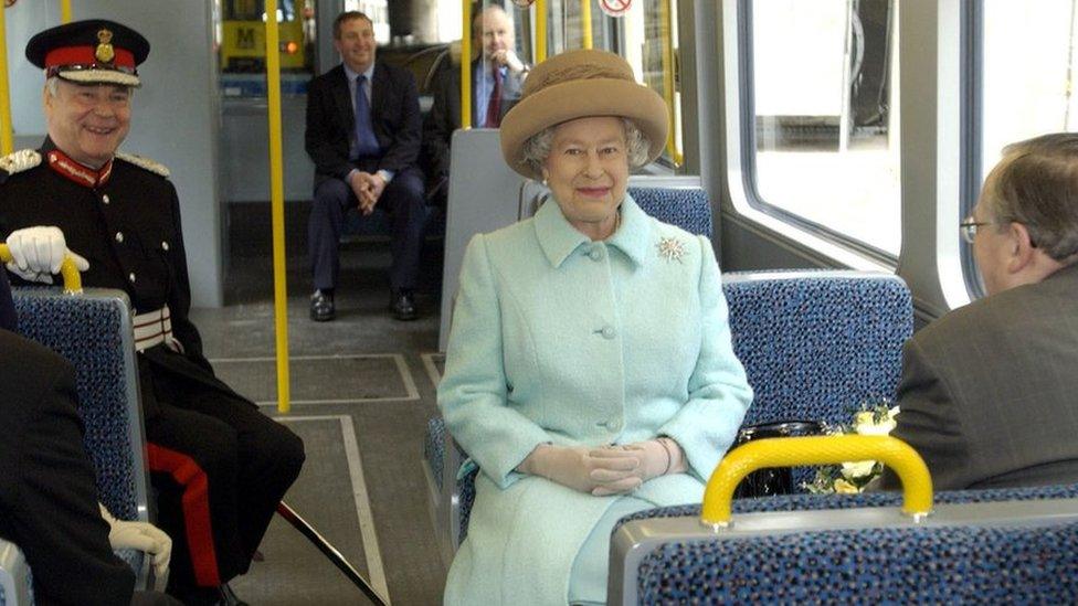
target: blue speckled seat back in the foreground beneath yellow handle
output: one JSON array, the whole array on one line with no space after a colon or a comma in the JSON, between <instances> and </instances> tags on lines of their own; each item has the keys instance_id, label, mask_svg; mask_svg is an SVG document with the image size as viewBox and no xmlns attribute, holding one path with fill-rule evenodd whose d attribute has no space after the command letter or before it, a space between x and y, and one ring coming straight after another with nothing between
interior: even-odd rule
<instances>
[{"instance_id":1,"label":"blue speckled seat back in the foreground beneath yellow handle","mask_svg":"<svg viewBox=\"0 0 1078 606\"><path fill-rule=\"evenodd\" d=\"M898 492L733 501L628 515L612 536L607 604L866 602L1069 604L1078 485L947 491L920 522ZM842 510L842 514L836 512Z\"/></svg>"}]
</instances>

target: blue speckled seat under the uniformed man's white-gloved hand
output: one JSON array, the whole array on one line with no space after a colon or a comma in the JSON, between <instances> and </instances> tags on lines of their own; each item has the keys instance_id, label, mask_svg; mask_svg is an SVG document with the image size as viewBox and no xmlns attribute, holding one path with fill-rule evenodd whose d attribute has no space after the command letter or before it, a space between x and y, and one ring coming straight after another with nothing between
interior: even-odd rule
<instances>
[{"instance_id":1,"label":"blue speckled seat under the uniformed man's white-gloved hand","mask_svg":"<svg viewBox=\"0 0 1078 606\"><path fill-rule=\"evenodd\" d=\"M127 295L95 288L77 296L49 288L14 288L12 294L19 332L75 366L78 412L86 450L97 470L98 499L117 519L149 521L146 440ZM24 568L7 567L8 562L18 565L19 559L3 560L6 549L0 543L0 567L8 574L24 574ZM146 588L149 559L134 550L117 554L135 570L136 587ZM24 583L12 582L12 588ZM25 603L18 599L20 595L17 592L8 602L0 599L0 605Z\"/></svg>"}]
</instances>

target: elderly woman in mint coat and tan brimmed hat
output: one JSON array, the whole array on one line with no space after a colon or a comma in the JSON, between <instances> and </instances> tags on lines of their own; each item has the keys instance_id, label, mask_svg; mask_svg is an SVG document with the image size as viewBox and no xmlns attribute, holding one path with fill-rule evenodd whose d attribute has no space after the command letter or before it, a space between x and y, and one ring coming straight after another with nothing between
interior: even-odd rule
<instances>
[{"instance_id":1,"label":"elderly woman in mint coat and tan brimmed hat","mask_svg":"<svg viewBox=\"0 0 1078 606\"><path fill-rule=\"evenodd\" d=\"M666 120L624 60L573 51L501 123L552 200L465 253L438 405L482 472L446 604L604 603L613 524L699 502L741 425L711 243L626 193Z\"/></svg>"}]
</instances>

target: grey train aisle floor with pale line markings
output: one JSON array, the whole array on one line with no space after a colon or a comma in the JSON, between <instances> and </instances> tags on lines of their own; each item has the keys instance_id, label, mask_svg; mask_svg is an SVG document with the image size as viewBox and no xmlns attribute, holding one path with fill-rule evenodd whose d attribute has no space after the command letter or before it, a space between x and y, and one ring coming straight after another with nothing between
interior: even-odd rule
<instances>
[{"instance_id":1,"label":"grey train aisle floor with pale line markings","mask_svg":"<svg viewBox=\"0 0 1078 606\"><path fill-rule=\"evenodd\" d=\"M293 246L292 251L299 253ZM438 556L421 468L435 414L440 267L424 268L421 317L393 320L385 243L342 247L337 319L308 319L310 278L288 258L292 411L276 407L273 273L268 251L233 243L228 305L192 312L215 371L304 438L307 461L285 501L311 522L392 604L441 603ZM263 560L233 581L253 606L366 604L305 538L276 517Z\"/></svg>"}]
</instances>

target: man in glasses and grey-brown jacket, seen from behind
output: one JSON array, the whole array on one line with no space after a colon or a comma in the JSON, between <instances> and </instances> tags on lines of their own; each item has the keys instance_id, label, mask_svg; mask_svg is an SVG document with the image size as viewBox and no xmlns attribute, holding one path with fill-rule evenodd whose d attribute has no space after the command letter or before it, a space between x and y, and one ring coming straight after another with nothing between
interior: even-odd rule
<instances>
[{"instance_id":1,"label":"man in glasses and grey-brown jacket, seen from behind","mask_svg":"<svg viewBox=\"0 0 1078 606\"><path fill-rule=\"evenodd\" d=\"M940 489L1078 481L1078 134L1007 147L962 230L989 296L907 342L891 435Z\"/></svg>"}]
</instances>

